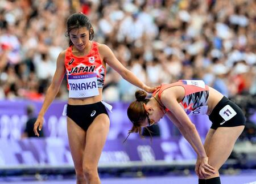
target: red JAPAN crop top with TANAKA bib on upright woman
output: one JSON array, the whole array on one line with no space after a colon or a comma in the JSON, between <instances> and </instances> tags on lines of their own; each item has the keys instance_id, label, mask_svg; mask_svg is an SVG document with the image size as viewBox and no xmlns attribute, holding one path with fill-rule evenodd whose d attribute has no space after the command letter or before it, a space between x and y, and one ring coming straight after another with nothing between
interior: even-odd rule
<instances>
[{"instance_id":1,"label":"red JAPAN crop top with TANAKA bib on upright woman","mask_svg":"<svg viewBox=\"0 0 256 184\"><path fill-rule=\"evenodd\" d=\"M73 55L72 46L69 46L65 54L65 69L69 98L97 96L98 88L104 87L105 67L98 53L97 42L92 42L92 49L83 57Z\"/></svg>"}]
</instances>

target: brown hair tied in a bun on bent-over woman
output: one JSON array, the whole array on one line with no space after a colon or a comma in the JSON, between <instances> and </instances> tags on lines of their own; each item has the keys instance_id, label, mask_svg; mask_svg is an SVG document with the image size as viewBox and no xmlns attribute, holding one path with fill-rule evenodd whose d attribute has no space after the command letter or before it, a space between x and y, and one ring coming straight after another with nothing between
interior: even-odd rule
<instances>
[{"instance_id":1,"label":"brown hair tied in a bun on bent-over woman","mask_svg":"<svg viewBox=\"0 0 256 184\"><path fill-rule=\"evenodd\" d=\"M133 123L133 127L131 128L131 130L128 131L128 135L123 142L125 142L129 137L129 135L133 132L135 133L139 132L139 135L143 137L141 134L141 130L142 130L141 123L147 118L147 111L144 108L143 104L147 104L147 102L150 100L150 99L146 99L146 96L147 96L147 93L142 90L138 90L135 92L136 100L131 102L131 104L127 109L127 115L130 121ZM147 131L150 132L150 130L148 129ZM150 132L150 135L151 135L151 132Z\"/></svg>"}]
</instances>

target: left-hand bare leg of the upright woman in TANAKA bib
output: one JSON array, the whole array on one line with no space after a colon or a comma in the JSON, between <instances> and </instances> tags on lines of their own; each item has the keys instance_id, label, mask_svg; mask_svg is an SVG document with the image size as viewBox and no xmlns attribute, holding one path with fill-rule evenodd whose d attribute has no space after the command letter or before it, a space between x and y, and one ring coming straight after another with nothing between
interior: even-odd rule
<instances>
[{"instance_id":1,"label":"left-hand bare leg of the upright woman in TANAKA bib","mask_svg":"<svg viewBox=\"0 0 256 184\"><path fill-rule=\"evenodd\" d=\"M77 184L85 184L85 176L82 170L82 155L85 148L86 133L71 118L67 117L68 142L72 159L75 165Z\"/></svg>"}]
</instances>

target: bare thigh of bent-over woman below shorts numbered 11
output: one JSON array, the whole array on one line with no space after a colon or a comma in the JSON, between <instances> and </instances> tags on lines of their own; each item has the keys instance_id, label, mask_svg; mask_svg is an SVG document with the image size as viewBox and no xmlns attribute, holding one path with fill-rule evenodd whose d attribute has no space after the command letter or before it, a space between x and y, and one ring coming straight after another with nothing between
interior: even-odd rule
<instances>
[{"instance_id":1,"label":"bare thigh of bent-over woman below shorts numbered 11","mask_svg":"<svg viewBox=\"0 0 256 184\"><path fill-rule=\"evenodd\" d=\"M236 143L244 127L245 126L218 127L212 135L207 149L207 155L209 157L209 164L216 170L220 169L228 159L234 147L234 143Z\"/></svg>"}]
</instances>

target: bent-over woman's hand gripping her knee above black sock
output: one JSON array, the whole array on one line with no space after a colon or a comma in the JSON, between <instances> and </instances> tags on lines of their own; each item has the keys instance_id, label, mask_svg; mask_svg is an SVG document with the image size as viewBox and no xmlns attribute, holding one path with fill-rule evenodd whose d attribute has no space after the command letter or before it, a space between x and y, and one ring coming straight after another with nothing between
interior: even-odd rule
<instances>
[{"instance_id":1,"label":"bent-over woman's hand gripping her knee above black sock","mask_svg":"<svg viewBox=\"0 0 256 184\"><path fill-rule=\"evenodd\" d=\"M207 178L215 173L214 168L208 164L208 157L197 157L195 170L200 178Z\"/></svg>"}]
</instances>

